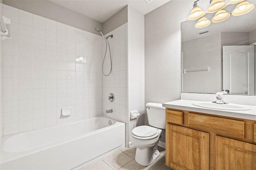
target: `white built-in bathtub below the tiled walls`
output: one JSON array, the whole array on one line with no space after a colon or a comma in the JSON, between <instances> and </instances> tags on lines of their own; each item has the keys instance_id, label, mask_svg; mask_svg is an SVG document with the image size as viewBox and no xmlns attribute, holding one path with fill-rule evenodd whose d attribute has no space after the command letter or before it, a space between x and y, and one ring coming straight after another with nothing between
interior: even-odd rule
<instances>
[{"instance_id":1,"label":"white built-in bathtub below the tiled walls","mask_svg":"<svg viewBox=\"0 0 256 170\"><path fill-rule=\"evenodd\" d=\"M0 169L79 169L124 145L125 123L94 117L4 136Z\"/></svg>"}]
</instances>

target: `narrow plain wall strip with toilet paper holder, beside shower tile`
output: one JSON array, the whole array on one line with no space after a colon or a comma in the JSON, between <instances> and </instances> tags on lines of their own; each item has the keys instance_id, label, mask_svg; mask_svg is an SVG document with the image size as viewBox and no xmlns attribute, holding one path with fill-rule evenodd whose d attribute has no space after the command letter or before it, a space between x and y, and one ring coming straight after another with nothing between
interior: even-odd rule
<instances>
[{"instance_id":1,"label":"narrow plain wall strip with toilet paper holder, beside shower tile","mask_svg":"<svg viewBox=\"0 0 256 170\"><path fill-rule=\"evenodd\" d=\"M128 6L128 138L133 128L144 125L144 15ZM130 120L130 112L141 115Z\"/></svg>"}]
</instances>

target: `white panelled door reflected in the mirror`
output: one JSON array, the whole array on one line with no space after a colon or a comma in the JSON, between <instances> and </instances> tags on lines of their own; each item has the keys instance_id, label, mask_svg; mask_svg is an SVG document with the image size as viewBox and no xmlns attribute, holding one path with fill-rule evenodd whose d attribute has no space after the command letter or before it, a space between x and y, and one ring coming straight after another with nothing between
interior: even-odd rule
<instances>
[{"instance_id":1,"label":"white panelled door reflected in the mirror","mask_svg":"<svg viewBox=\"0 0 256 170\"><path fill-rule=\"evenodd\" d=\"M254 45L223 46L223 90L255 95Z\"/></svg>"}]
</instances>

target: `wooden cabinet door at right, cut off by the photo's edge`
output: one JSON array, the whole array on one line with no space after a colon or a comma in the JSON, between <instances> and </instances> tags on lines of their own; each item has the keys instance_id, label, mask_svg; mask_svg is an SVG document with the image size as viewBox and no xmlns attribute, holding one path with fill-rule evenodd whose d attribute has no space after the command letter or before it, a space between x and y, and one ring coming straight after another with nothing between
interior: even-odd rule
<instances>
[{"instance_id":1,"label":"wooden cabinet door at right, cut off by the photo's edge","mask_svg":"<svg viewBox=\"0 0 256 170\"><path fill-rule=\"evenodd\" d=\"M216 170L256 170L256 145L216 136Z\"/></svg>"}]
</instances>

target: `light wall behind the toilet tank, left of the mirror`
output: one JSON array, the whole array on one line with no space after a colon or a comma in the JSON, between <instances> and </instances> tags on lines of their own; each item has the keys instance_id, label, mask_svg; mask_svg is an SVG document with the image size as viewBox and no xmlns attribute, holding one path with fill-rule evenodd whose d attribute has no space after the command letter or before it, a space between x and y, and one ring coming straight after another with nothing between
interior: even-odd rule
<instances>
[{"instance_id":1,"label":"light wall behind the toilet tank, left of the mirror","mask_svg":"<svg viewBox=\"0 0 256 170\"><path fill-rule=\"evenodd\" d=\"M180 99L180 23L187 20L193 2L171 0L145 15L145 104ZM165 142L165 130L160 141Z\"/></svg>"}]
</instances>

